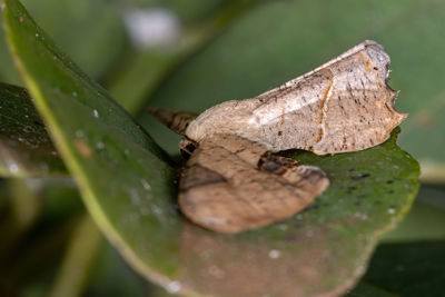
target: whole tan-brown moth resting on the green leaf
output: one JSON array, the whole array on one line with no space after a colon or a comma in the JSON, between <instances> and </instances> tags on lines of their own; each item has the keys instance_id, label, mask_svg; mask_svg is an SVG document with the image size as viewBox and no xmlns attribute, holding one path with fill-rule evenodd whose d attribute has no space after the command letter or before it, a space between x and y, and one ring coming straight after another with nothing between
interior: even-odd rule
<instances>
[{"instance_id":1,"label":"whole tan-brown moth resting on the green leaf","mask_svg":"<svg viewBox=\"0 0 445 297\"><path fill-rule=\"evenodd\" d=\"M255 98L217 105L198 117L152 109L190 155L178 204L191 221L234 234L294 216L329 180L316 167L273 152L357 151L388 139L407 115L394 108L389 57L366 40L315 70Z\"/></svg>"}]
</instances>

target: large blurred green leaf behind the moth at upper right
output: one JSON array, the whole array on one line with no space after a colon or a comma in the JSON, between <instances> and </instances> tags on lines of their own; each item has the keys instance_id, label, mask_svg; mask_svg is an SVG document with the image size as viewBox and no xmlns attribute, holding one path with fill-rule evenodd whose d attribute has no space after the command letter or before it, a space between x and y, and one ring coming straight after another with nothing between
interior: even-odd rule
<instances>
[{"instance_id":1,"label":"large blurred green leaf behind the moth at upper right","mask_svg":"<svg viewBox=\"0 0 445 297\"><path fill-rule=\"evenodd\" d=\"M150 103L201 111L250 98L374 39L392 57L390 85L400 90L397 107L409 113L399 143L421 161L425 178L444 181L445 39L438 38L444 19L445 2L437 0L267 1L179 68ZM147 117L142 123L152 121ZM168 151L176 149L164 130L152 136Z\"/></svg>"}]
</instances>

